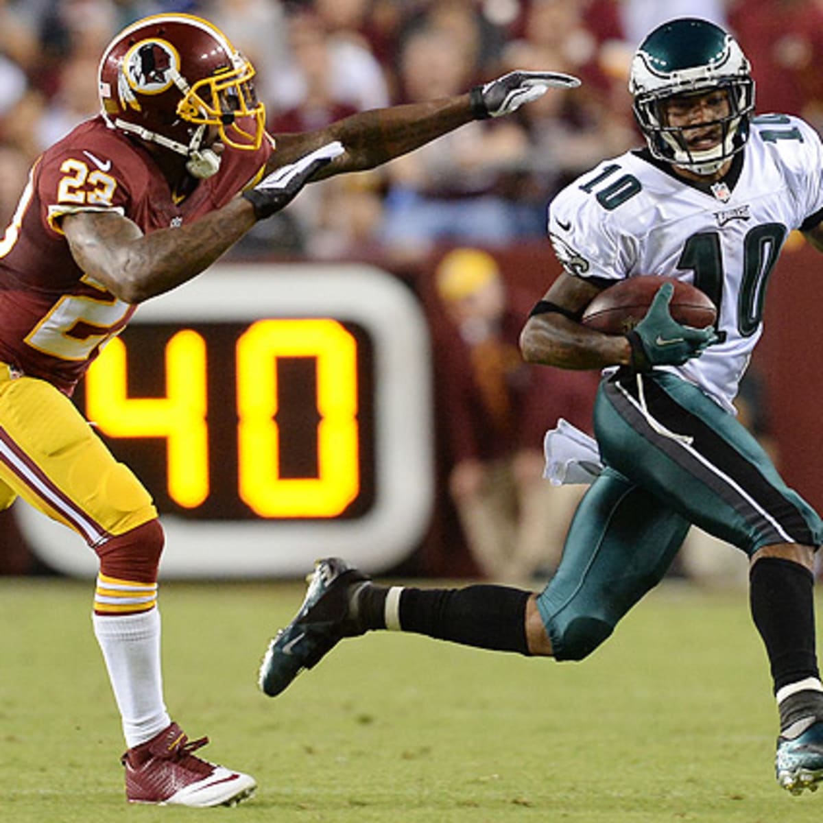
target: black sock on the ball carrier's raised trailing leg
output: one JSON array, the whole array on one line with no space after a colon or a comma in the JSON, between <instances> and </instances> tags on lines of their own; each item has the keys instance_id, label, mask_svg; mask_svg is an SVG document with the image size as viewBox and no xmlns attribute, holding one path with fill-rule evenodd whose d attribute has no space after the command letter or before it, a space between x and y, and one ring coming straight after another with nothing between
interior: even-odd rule
<instances>
[{"instance_id":1,"label":"black sock on the ball carrier's raised trailing leg","mask_svg":"<svg viewBox=\"0 0 823 823\"><path fill-rule=\"evenodd\" d=\"M526 602L529 592L507 586L404 588L400 625L441 640L501 652L528 654Z\"/></svg>"}]
</instances>

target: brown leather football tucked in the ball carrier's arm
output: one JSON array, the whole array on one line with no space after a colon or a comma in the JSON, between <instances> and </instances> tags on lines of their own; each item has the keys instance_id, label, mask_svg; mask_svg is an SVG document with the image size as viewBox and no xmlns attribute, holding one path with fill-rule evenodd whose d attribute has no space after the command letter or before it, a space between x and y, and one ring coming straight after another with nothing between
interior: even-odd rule
<instances>
[{"instance_id":1,"label":"brown leather football tucked in the ball carrier's arm","mask_svg":"<svg viewBox=\"0 0 823 823\"><path fill-rule=\"evenodd\" d=\"M586 308L581 323L604 334L625 334L644 318L663 283L674 284L669 312L677 323L705 328L717 319L717 309L700 289L673 277L627 277L600 292Z\"/></svg>"}]
</instances>

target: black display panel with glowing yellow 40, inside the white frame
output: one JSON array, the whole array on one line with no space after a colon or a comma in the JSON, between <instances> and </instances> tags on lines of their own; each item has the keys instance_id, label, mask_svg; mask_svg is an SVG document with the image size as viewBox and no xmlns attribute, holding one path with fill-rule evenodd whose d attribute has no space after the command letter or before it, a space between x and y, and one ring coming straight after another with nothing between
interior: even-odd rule
<instances>
[{"instance_id":1,"label":"black display panel with glowing yellow 40, inside the white frame","mask_svg":"<svg viewBox=\"0 0 823 823\"><path fill-rule=\"evenodd\" d=\"M78 402L161 514L351 518L374 497L370 364L327 318L134 325Z\"/></svg>"}]
</instances>

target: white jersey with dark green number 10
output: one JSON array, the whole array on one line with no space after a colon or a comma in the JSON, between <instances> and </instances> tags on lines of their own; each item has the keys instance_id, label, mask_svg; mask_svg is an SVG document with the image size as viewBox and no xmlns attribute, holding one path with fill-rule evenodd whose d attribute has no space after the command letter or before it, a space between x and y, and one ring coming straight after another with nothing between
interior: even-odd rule
<instances>
[{"instance_id":1,"label":"white jersey with dark green number 10","mask_svg":"<svg viewBox=\"0 0 823 823\"><path fill-rule=\"evenodd\" d=\"M598 281L644 274L698 286L720 342L671 367L724 408L763 330L766 285L791 230L823 217L823 146L801 119L766 114L722 183L692 184L646 152L604 160L561 191L549 236L565 270Z\"/></svg>"}]
</instances>

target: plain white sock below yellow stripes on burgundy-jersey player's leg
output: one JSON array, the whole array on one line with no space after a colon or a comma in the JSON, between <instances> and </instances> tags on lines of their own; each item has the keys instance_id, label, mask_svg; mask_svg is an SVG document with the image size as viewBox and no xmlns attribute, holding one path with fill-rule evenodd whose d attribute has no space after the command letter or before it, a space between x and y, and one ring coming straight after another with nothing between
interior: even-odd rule
<instances>
[{"instance_id":1,"label":"plain white sock below yellow stripes on burgundy-jersey player's leg","mask_svg":"<svg viewBox=\"0 0 823 823\"><path fill-rule=\"evenodd\" d=\"M134 615L93 614L92 620L131 749L171 723L160 671L160 612L155 607Z\"/></svg>"}]
</instances>

